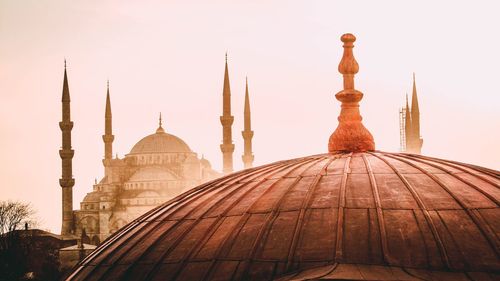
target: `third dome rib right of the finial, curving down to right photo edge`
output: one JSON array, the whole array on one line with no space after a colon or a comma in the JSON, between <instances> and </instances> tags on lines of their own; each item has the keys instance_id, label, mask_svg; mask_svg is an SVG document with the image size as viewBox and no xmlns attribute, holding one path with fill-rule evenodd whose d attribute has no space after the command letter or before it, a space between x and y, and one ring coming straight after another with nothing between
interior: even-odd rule
<instances>
[{"instance_id":1,"label":"third dome rib right of the finial, curving down to right photo edge","mask_svg":"<svg viewBox=\"0 0 500 281\"><path fill-rule=\"evenodd\" d=\"M450 188L445 185L441 179L439 179L438 177L436 177L435 175L429 173L428 171L426 171L425 169L423 169L422 167L420 167L419 165L416 165L415 163L412 163L411 161L408 161L408 160L405 160L405 159L401 159L401 158L398 158L398 157L395 157L391 154L388 154L388 153L383 153L384 156L387 156L389 158L392 158L392 159L397 159L401 162L404 162L412 167L415 167L417 168L418 170L420 170L423 174L425 174L426 176L428 176L429 178L431 178L433 181L435 181L439 186L441 186L448 194L450 194L450 196L462 207L462 209L468 214L468 216L472 219L472 221L475 223L476 227L480 230L481 234L483 235L484 238L486 238L486 241L490 244L490 246L494 249L494 252L496 254L496 257L497 258L500 258L500 245L499 245L499 241L498 239L496 238L495 234L493 233L493 231L491 230L491 228L489 227L488 224L484 224L484 223L481 223L481 220L472 212L472 209L469 208L469 206L467 206L462 199L460 199L457 194L455 194L454 192L452 192L452 190L450 190ZM439 212L438 212L439 214ZM453 236L453 235L452 235ZM457 244L457 246L460 248L460 243Z\"/></svg>"}]
</instances>

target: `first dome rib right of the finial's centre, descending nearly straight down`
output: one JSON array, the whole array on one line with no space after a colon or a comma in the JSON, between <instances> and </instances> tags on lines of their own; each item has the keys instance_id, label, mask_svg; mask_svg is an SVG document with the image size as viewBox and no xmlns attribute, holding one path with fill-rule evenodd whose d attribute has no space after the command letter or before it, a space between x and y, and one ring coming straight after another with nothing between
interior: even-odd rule
<instances>
[{"instance_id":1,"label":"first dome rib right of the finial's centre, descending nearly straight down","mask_svg":"<svg viewBox=\"0 0 500 281\"><path fill-rule=\"evenodd\" d=\"M365 163L366 170L368 172L368 176L370 177L370 185L372 187L372 192L373 196L375 199L375 206L376 206L376 211L377 211L377 222L378 222L378 227L380 231L380 239L381 239L381 246L382 246L382 255L383 259L386 263L388 264L395 264L395 261L393 258L390 256L389 253L389 247L387 244L387 232L385 229L385 220L384 220L384 214L382 211L382 204L380 203L380 194L378 192L378 186L377 182L375 180L375 175L373 174L372 167L370 165L370 162L366 158L365 154L362 154L363 157L363 162Z\"/></svg>"}]
</instances>

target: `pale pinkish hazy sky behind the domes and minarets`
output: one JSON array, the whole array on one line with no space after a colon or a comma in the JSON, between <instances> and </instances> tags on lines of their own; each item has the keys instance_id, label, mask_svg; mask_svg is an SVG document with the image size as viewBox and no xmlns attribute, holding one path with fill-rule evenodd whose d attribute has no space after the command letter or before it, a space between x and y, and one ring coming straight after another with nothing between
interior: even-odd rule
<instances>
[{"instance_id":1,"label":"pale pinkish hazy sky behind the domes and minarets","mask_svg":"<svg viewBox=\"0 0 500 281\"><path fill-rule=\"evenodd\" d=\"M114 150L164 128L221 169L224 53L242 168L248 75L255 164L327 151L343 33L376 148L399 150L416 72L423 153L500 169L498 1L0 0L0 200L32 202L60 231L61 91L68 60L74 206L103 176L110 80Z\"/></svg>"}]
</instances>

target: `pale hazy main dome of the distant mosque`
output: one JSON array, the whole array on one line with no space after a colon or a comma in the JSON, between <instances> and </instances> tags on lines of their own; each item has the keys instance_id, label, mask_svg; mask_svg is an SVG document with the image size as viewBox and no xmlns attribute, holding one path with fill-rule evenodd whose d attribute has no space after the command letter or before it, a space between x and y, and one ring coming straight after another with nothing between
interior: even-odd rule
<instances>
[{"instance_id":1,"label":"pale hazy main dome of the distant mosque","mask_svg":"<svg viewBox=\"0 0 500 281\"><path fill-rule=\"evenodd\" d=\"M144 137L134 145L130 154L191 152L189 146L180 138L158 131Z\"/></svg>"}]
</instances>

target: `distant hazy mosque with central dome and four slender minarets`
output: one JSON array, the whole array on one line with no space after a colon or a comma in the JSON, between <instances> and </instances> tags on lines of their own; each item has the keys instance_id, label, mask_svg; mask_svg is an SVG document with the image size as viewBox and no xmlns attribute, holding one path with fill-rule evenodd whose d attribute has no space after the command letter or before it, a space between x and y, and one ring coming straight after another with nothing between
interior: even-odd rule
<instances>
[{"instance_id":1,"label":"distant hazy mosque with central dome and four slender minarets","mask_svg":"<svg viewBox=\"0 0 500 281\"><path fill-rule=\"evenodd\" d=\"M242 156L245 167L251 167L253 131L250 124L250 101L248 82L245 91L244 128L245 153ZM223 86L223 173L233 170L231 90L229 71L226 65ZM81 237L82 244L99 245L115 231L138 216L167 202L175 196L222 174L215 171L203 156L198 158L189 145L159 125L155 132L137 142L123 158L113 157L113 130L109 82L106 94L104 141L104 177L93 185L80 203L80 210L73 210L70 92L66 65L62 92L62 188L63 219L61 235L65 238Z\"/></svg>"}]
</instances>

